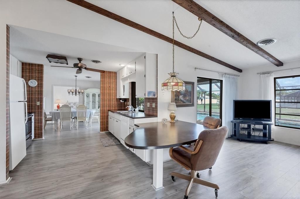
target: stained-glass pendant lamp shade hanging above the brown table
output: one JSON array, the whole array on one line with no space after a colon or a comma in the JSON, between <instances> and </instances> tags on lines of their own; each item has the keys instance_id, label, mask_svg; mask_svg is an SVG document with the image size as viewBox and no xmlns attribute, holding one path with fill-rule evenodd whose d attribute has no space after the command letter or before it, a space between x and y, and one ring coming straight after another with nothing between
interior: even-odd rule
<instances>
[{"instance_id":1,"label":"stained-glass pendant lamp shade hanging above the brown table","mask_svg":"<svg viewBox=\"0 0 300 199\"><path fill-rule=\"evenodd\" d=\"M170 75L169 79L166 79L161 84L161 90L163 91L184 91L185 83L176 77L179 73L168 73Z\"/></svg>"}]
</instances>

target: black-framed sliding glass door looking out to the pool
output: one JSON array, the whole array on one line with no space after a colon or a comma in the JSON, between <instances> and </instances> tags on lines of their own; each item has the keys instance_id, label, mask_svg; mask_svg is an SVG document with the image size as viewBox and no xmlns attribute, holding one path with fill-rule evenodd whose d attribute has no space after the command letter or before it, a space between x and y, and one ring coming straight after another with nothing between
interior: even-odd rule
<instances>
[{"instance_id":1,"label":"black-framed sliding glass door looking out to the pool","mask_svg":"<svg viewBox=\"0 0 300 199\"><path fill-rule=\"evenodd\" d=\"M222 119L222 80L197 78L197 123L205 116Z\"/></svg>"}]
</instances>

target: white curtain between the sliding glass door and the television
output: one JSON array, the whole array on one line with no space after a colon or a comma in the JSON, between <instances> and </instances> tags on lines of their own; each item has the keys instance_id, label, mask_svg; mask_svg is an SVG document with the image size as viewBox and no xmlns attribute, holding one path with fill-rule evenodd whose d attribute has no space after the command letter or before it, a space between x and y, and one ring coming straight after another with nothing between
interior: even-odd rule
<instances>
[{"instance_id":1,"label":"white curtain between the sliding glass door and the television","mask_svg":"<svg viewBox=\"0 0 300 199\"><path fill-rule=\"evenodd\" d=\"M223 75L223 97L222 97L222 126L229 128L226 137L232 134L231 120L233 120L233 100L237 99L238 77Z\"/></svg>"}]
</instances>

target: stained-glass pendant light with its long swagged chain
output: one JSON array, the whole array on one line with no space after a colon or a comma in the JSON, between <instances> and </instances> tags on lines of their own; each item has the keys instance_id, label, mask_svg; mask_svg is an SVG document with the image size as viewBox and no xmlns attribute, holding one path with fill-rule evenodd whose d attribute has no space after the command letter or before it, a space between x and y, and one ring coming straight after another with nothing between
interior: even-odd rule
<instances>
[{"instance_id":1,"label":"stained-glass pendant light with its long swagged chain","mask_svg":"<svg viewBox=\"0 0 300 199\"><path fill-rule=\"evenodd\" d=\"M184 91L185 90L184 81L182 81L181 79L176 77L179 73L174 72L174 22L176 23L176 27L178 30L179 30L179 27L177 25L177 22L176 22L176 19L174 16L174 12L172 14L173 14L173 73L168 73L170 75L170 77L161 84L161 90L163 90L163 91ZM201 25L202 19L199 19L199 21L200 21L200 25ZM200 25L199 25L196 33L191 37L184 36L180 30L179 30L179 32L184 38L192 39L198 33L198 31L200 29Z\"/></svg>"}]
</instances>

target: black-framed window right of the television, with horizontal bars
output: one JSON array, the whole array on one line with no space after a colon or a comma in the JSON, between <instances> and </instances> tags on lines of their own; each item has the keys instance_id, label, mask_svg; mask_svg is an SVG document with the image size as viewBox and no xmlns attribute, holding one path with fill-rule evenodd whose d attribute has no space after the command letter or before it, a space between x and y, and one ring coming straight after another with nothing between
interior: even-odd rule
<instances>
[{"instance_id":1,"label":"black-framed window right of the television, with horizontal bars","mask_svg":"<svg viewBox=\"0 0 300 199\"><path fill-rule=\"evenodd\" d=\"M275 77L275 126L300 129L300 75Z\"/></svg>"}]
</instances>

